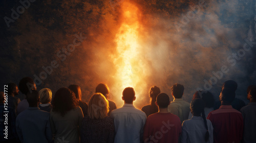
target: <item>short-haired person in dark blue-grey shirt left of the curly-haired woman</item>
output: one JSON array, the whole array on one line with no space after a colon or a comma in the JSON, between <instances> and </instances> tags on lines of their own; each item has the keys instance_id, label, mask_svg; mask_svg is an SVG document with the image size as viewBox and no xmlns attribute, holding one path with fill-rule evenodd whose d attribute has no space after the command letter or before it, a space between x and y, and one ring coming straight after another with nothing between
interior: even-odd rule
<instances>
[{"instance_id":1,"label":"short-haired person in dark blue-grey shirt left of the curly-haired woman","mask_svg":"<svg viewBox=\"0 0 256 143\"><path fill-rule=\"evenodd\" d=\"M38 107L39 93L36 90L27 93L28 109L19 113L16 118L16 130L21 142L45 143L52 141L49 122L50 113Z\"/></svg>"}]
</instances>

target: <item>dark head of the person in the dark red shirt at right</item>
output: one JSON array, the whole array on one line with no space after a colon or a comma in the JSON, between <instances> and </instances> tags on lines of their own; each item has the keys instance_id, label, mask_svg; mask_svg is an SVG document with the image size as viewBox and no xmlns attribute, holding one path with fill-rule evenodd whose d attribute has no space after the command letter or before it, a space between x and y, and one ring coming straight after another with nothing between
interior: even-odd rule
<instances>
[{"instance_id":1,"label":"dark head of the person in the dark red shirt at right","mask_svg":"<svg viewBox=\"0 0 256 143\"><path fill-rule=\"evenodd\" d=\"M220 101L222 105L231 105L234 98L236 97L236 93L233 89L230 88L223 88L220 93Z\"/></svg>"}]
</instances>

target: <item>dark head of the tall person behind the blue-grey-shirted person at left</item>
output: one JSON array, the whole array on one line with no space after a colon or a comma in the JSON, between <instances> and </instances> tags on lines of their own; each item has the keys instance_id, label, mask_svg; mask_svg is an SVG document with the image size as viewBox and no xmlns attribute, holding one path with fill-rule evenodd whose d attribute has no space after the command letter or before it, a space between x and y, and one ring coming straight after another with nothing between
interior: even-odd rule
<instances>
[{"instance_id":1,"label":"dark head of the tall person behind the blue-grey-shirted person at left","mask_svg":"<svg viewBox=\"0 0 256 143\"><path fill-rule=\"evenodd\" d=\"M36 90L36 85L32 78L25 77L19 81L18 88L19 88L20 92L22 92L23 94L27 94L28 92L31 92L32 90Z\"/></svg>"}]
</instances>

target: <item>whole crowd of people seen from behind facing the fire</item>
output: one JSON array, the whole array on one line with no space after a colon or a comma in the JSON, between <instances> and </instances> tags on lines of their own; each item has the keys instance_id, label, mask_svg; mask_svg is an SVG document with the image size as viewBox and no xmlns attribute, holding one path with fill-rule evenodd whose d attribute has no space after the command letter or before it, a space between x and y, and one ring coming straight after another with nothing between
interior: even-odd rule
<instances>
[{"instance_id":1,"label":"whole crowd of people seen from behind facing the fire","mask_svg":"<svg viewBox=\"0 0 256 143\"><path fill-rule=\"evenodd\" d=\"M190 104L183 100L184 86L170 87L173 101L152 86L150 104L134 106L133 87L123 89L124 104L109 100L110 89L100 83L88 104L79 85L37 90L25 77L0 92L0 142L3 143L255 143L256 85L247 88L247 99L236 98L237 82L223 83L219 101L205 90L196 91ZM19 99L22 92L26 98ZM7 137L6 137L7 136Z\"/></svg>"}]
</instances>

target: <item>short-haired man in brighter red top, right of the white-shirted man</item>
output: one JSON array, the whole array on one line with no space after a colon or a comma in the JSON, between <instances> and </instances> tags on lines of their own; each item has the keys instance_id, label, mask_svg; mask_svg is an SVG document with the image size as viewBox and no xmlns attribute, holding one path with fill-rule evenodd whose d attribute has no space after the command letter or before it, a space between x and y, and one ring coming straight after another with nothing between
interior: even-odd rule
<instances>
[{"instance_id":1,"label":"short-haired man in brighter red top, right of the white-shirted man","mask_svg":"<svg viewBox=\"0 0 256 143\"><path fill-rule=\"evenodd\" d=\"M181 122L177 115L168 112L167 107L169 104L170 101L167 94L158 94L156 105L159 111L147 117L143 135L145 143L178 143L181 135Z\"/></svg>"}]
</instances>

